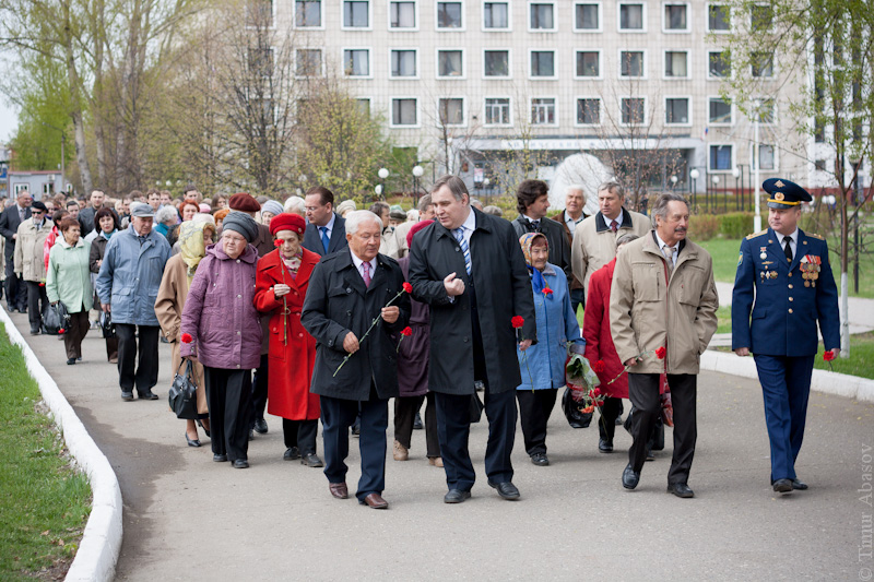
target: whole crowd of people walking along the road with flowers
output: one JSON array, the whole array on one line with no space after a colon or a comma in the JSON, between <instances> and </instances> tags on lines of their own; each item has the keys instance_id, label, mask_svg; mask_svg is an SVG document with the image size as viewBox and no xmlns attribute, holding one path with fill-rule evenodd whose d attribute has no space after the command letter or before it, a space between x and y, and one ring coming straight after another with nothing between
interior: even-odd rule
<instances>
[{"instance_id":1,"label":"whole crowd of people walking along the road with flowers","mask_svg":"<svg viewBox=\"0 0 874 582\"><path fill-rule=\"evenodd\" d=\"M764 187L769 228L741 247L733 348L756 357L770 480L790 492L807 488L793 464L816 324L835 354L837 300L822 238L798 228L810 194L789 180ZM587 195L598 200L590 216ZM439 178L409 212L338 204L321 186L284 203L248 193L203 200L193 187L176 201L157 190L115 202L94 191L87 203L20 192L0 214L3 292L10 312L28 314L33 335L47 309L63 306L69 365L82 361L83 338L99 329L125 401L158 399L158 346L168 343L172 369L196 387L196 407L180 418L186 443L201 447L202 430L217 463L249 466L249 441L269 430L267 412L282 418L282 459L323 467L330 494L344 499L357 436L354 495L385 509L387 451L409 460L413 429L424 425L424 459L446 473L444 501L461 503L476 480L470 427L485 413L486 482L516 500L517 420L530 461L550 465L547 424L565 389L577 412L597 411L605 454L630 400L626 489L636 488L669 418L668 492L693 497L697 375L719 299L709 253L687 237L688 202L662 194L646 216L626 209L615 180L565 197L550 217L548 186L524 180L509 222L484 212L456 176ZM784 316L775 319L778 304ZM803 347L763 338L775 330L805 337ZM597 378L582 390L566 371L580 356Z\"/></svg>"}]
</instances>

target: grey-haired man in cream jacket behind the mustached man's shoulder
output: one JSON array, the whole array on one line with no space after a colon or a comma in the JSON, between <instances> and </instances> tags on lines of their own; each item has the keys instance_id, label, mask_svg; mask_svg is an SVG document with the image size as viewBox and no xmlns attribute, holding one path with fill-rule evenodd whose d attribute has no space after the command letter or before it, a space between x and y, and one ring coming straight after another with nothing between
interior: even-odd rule
<instances>
[{"instance_id":1,"label":"grey-haired man in cream jacket behind the mustached man's shoulder","mask_svg":"<svg viewBox=\"0 0 874 582\"><path fill-rule=\"evenodd\" d=\"M649 218L622 206L625 189L616 180L598 187L600 211L577 225L570 245L574 277L589 292L589 277L616 257L616 239L622 235L642 237L650 229ZM583 300L583 308L586 301Z\"/></svg>"}]
</instances>

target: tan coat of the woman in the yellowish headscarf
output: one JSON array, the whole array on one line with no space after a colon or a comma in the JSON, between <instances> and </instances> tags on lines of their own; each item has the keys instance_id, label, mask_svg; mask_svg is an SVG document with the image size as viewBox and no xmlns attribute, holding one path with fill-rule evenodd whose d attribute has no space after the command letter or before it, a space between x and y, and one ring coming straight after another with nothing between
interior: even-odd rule
<instances>
[{"instance_id":1,"label":"tan coat of the woman in the yellowish headscarf","mask_svg":"<svg viewBox=\"0 0 874 582\"><path fill-rule=\"evenodd\" d=\"M182 261L181 254L174 254L164 268L164 276L157 290L155 300L155 314L157 316L161 333L170 342L173 348L173 371L179 370L182 363L179 354L179 328L182 324L182 308L188 297L188 266ZM198 413L206 414L206 382L203 378L203 365L194 363L194 381L198 385Z\"/></svg>"}]
</instances>

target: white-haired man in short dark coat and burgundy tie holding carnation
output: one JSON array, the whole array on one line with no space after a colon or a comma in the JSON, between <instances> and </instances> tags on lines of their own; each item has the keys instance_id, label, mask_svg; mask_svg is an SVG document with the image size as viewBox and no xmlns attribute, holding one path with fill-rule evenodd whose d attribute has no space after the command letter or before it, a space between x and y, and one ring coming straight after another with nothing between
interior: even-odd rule
<instances>
[{"instance_id":1,"label":"white-haired man in short dark coat and burgundy tie holding carnation","mask_svg":"<svg viewBox=\"0 0 874 582\"><path fill-rule=\"evenodd\" d=\"M379 253L381 233L382 221L376 214L350 213L349 248L316 265L300 314L317 342L310 390L321 396L328 488L339 499L349 496L349 428L361 415L362 476L355 496L374 509L389 506L382 499L388 402L399 395L391 334L410 319L401 268ZM371 326L375 318L379 319Z\"/></svg>"}]
</instances>

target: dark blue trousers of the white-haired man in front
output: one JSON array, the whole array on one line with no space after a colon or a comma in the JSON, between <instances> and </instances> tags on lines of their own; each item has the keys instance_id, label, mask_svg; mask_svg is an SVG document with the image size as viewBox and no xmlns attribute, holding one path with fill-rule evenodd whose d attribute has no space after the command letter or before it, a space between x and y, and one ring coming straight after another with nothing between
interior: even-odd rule
<instances>
[{"instance_id":1,"label":"dark blue trousers of the white-haired man in front","mask_svg":"<svg viewBox=\"0 0 874 582\"><path fill-rule=\"evenodd\" d=\"M344 400L321 396L321 425L324 439L324 476L328 483L345 483L349 456L349 428L358 416L362 432L358 450L362 477L355 497L363 500L370 494L382 495L386 488L386 430L389 427L389 401L377 396L370 387L370 400Z\"/></svg>"}]
</instances>

